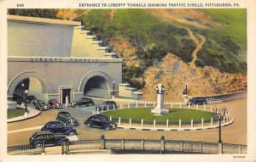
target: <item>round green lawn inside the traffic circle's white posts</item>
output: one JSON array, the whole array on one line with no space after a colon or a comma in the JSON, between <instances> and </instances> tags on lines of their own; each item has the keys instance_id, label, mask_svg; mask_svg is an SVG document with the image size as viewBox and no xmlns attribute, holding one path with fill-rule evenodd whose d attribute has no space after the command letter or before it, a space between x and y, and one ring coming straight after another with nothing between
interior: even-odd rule
<instances>
[{"instance_id":1,"label":"round green lawn inside the traffic circle's white posts","mask_svg":"<svg viewBox=\"0 0 256 162\"><path fill-rule=\"evenodd\" d=\"M169 120L169 123L178 123L178 120L181 119L183 124L189 124L191 119L195 123L200 123L201 119L204 118L204 121L209 122L213 117L213 120L218 120L218 117L211 112L206 112L202 110L195 109L170 109L169 114L165 115L154 115L151 112L151 109L148 108L138 108L138 109L117 109L114 111L103 112L102 115L112 116L113 120L118 120L121 117L122 122L129 122L130 118L132 123L140 123L143 119L144 123L153 123L154 119L157 124L166 124L166 120Z\"/></svg>"}]
</instances>

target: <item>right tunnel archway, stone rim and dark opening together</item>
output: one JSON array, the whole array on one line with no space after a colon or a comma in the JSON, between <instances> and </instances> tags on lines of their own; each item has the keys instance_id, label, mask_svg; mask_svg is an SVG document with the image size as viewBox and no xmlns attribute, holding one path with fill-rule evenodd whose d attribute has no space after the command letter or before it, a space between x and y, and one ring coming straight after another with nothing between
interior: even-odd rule
<instances>
[{"instance_id":1,"label":"right tunnel archway, stone rim and dark opening together","mask_svg":"<svg viewBox=\"0 0 256 162\"><path fill-rule=\"evenodd\" d=\"M87 96L110 98L111 87L113 87L113 80L105 72L90 71L80 82L79 92Z\"/></svg>"}]
</instances>

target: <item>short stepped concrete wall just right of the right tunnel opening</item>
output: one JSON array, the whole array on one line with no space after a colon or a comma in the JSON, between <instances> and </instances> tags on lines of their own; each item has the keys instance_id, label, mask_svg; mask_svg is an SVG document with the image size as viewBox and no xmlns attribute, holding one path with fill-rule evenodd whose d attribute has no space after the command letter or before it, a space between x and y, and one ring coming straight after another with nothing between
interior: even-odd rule
<instances>
[{"instance_id":1,"label":"short stepped concrete wall just right of the right tunnel opening","mask_svg":"<svg viewBox=\"0 0 256 162\"><path fill-rule=\"evenodd\" d=\"M143 93L137 92L137 89L134 87L130 87L130 84L120 83L119 97L141 99L143 98Z\"/></svg>"}]
</instances>

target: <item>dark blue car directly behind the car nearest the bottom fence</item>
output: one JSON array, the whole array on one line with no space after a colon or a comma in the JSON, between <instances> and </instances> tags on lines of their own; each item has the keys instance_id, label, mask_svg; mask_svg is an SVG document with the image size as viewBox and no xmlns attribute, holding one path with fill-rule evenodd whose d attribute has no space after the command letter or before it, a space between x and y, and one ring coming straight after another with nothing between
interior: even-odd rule
<instances>
[{"instance_id":1,"label":"dark blue car directly behind the car nearest the bottom fence","mask_svg":"<svg viewBox=\"0 0 256 162\"><path fill-rule=\"evenodd\" d=\"M60 121L49 121L41 128L41 131L50 131L53 133L61 133L70 136L77 134L77 131L73 126L64 125Z\"/></svg>"}]
</instances>

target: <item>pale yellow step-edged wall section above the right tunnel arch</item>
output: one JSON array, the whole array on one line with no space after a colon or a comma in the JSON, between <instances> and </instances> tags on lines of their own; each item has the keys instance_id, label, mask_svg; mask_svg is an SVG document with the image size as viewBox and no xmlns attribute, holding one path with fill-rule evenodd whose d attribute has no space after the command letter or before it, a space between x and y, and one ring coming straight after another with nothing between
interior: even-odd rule
<instances>
[{"instance_id":1,"label":"pale yellow step-edged wall section above the right tunnel arch","mask_svg":"<svg viewBox=\"0 0 256 162\"><path fill-rule=\"evenodd\" d=\"M116 53L109 53L109 47L102 47L102 41L96 36L90 36L90 31L84 31L84 26L73 27L73 43L71 48L73 58L117 58Z\"/></svg>"}]
</instances>

